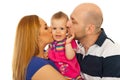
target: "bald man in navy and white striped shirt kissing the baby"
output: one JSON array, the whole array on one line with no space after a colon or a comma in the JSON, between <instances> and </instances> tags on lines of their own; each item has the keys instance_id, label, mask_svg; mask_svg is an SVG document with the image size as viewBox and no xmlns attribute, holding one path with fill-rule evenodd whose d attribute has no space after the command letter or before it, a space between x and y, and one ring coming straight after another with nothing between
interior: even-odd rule
<instances>
[{"instance_id":1,"label":"bald man in navy and white striped shirt kissing the baby","mask_svg":"<svg viewBox=\"0 0 120 80\"><path fill-rule=\"evenodd\" d=\"M93 3L78 5L67 26L75 33L77 58L85 80L120 80L120 46L107 37L101 9Z\"/></svg>"}]
</instances>

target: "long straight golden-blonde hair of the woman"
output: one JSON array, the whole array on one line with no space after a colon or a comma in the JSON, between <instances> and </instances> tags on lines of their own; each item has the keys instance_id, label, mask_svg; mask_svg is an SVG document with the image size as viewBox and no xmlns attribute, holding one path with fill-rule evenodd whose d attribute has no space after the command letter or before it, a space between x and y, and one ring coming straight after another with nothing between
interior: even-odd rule
<instances>
[{"instance_id":1,"label":"long straight golden-blonde hair of the woman","mask_svg":"<svg viewBox=\"0 0 120 80\"><path fill-rule=\"evenodd\" d=\"M37 38L40 20L37 15L24 16L17 27L13 54L13 80L25 80L26 68L32 58L39 53Z\"/></svg>"}]
</instances>

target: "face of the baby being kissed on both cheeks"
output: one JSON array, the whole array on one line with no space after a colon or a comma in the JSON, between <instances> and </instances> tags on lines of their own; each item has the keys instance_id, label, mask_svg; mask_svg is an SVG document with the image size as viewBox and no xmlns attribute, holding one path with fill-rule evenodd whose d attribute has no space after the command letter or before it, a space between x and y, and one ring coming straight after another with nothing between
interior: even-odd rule
<instances>
[{"instance_id":1,"label":"face of the baby being kissed on both cheeks","mask_svg":"<svg viewBox=\"0 0 120 80\"><path fill-rule=\"evenodd\" d=\"M61 41L66 38L67 27L64 19L53 19L51 28L54 40Z\"/></svg>"}]
</instances>

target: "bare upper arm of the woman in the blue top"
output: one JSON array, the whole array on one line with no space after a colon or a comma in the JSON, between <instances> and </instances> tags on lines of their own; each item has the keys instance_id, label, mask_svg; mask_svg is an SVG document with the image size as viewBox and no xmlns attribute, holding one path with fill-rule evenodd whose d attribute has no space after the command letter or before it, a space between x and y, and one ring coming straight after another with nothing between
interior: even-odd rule
<instances>
[{"instance_id":1,"label":"bare upper arm of the woman in the blue top","mask_svg":"<svg viewBox=\"0 0 120 80\"><path fill-rule=\"evenodd\" d=\"M32 80L66 80L66 79L51 65L45 65L33 75Z\"/></svg>"}]
</instances>

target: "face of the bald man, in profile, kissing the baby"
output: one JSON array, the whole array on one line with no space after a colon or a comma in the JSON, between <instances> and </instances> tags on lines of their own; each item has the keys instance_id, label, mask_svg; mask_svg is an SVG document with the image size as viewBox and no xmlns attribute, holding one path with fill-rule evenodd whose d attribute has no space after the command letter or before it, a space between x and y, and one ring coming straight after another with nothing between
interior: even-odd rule
<instances>
[{"instance_id":1,"label":"face of the bald man, in profile, kissing the baby","mask_svg":"<svg viewBox=\"0 0 120 80\"><path fill-rule=\"evenodd\" d=\"M86 32L83 13L73 11L67 26L75 33L75 39L80 40L85 37Z\"/></svg>"}]
</instances>

